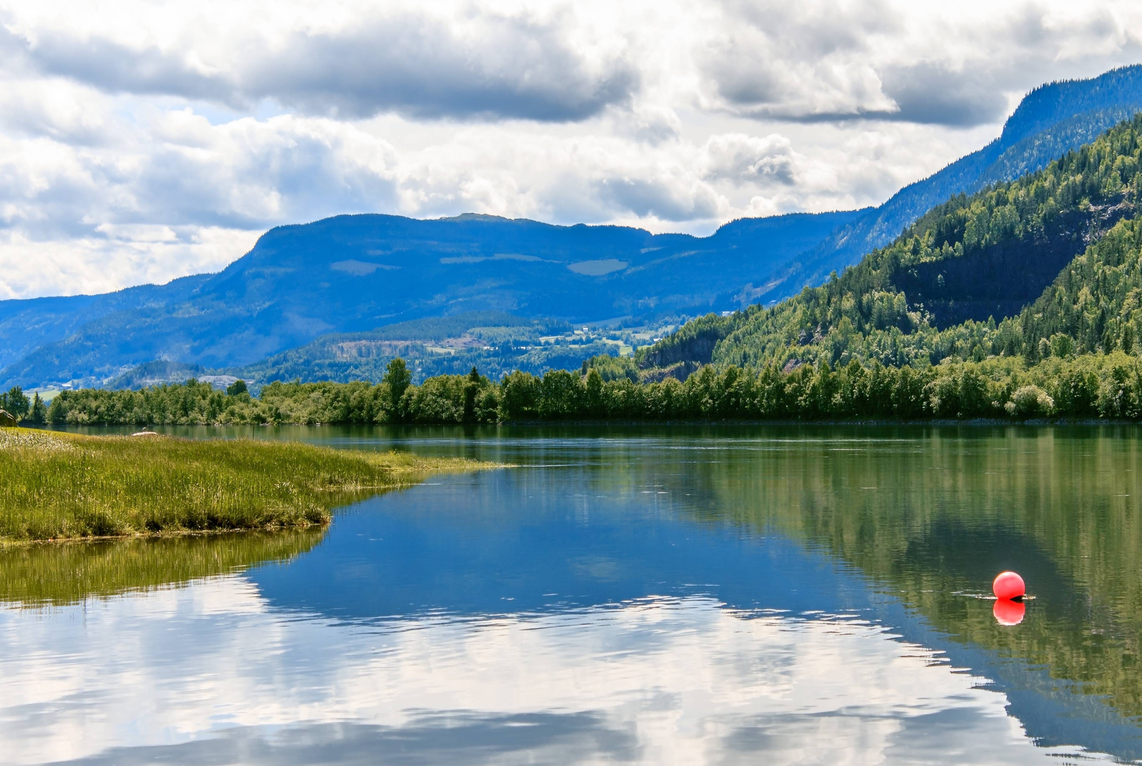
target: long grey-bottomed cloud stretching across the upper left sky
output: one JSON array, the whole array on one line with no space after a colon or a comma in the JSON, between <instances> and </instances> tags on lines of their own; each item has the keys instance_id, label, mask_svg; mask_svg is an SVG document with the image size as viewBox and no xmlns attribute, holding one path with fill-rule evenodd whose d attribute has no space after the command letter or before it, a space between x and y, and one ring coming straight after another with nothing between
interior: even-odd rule
<instances>
[{"instance_id":1,"label":"long grey-bottomed cloud stretching across the upper left sky","mask_svg":"<svg viewBox=\"0 0 1142 766\"><path fill-rule=\"evenodd\" d=\"M112 92L169 95L249 108L264 99L311 115L584 120L630 99L637 70L588 61L560 19L489 14L463 25L411 11L338 30L250 29L203 59L195 40L161 48L99 34L29 33L34 70ZM11 46L9 46L11 47Z\"/></svg>"}]
</instances>

